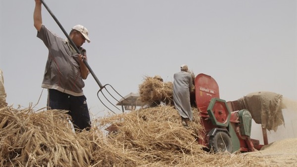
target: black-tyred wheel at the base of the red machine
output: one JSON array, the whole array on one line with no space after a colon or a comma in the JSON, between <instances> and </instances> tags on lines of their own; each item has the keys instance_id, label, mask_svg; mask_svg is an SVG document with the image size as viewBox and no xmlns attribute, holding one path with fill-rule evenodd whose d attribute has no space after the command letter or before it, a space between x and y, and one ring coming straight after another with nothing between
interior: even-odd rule
<instances>
[{"instance_id":1,"label":"black-tyred wheel at the base of the red machine","mask_svg":"<svg viewBox=\"0 0 297 167\"><path fill-rule=\"evenodd\" d=\"M232 153L232 141L229 135L223 131L218 131L209 137L209 148L216 152L228 151Z\"/></svg>"}]
</instances>

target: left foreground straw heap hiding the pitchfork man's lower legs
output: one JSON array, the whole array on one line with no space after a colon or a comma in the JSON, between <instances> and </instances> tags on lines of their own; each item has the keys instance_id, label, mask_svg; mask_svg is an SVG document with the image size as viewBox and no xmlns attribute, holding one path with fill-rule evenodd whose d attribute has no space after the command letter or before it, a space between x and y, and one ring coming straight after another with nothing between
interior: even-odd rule
<instances>
[{"instance_id":1,"label":"left foreground straw heap hiding the pitchfork man's lower legs","mask_svg":"<svg viewBox=\"0 0 297 167\"><path fill-rule=\"evenodd\" d=\"M0 166L78 166L90 161L88 142L77 138L66 111L0 110Z\"/></svg>"}]
</instances>

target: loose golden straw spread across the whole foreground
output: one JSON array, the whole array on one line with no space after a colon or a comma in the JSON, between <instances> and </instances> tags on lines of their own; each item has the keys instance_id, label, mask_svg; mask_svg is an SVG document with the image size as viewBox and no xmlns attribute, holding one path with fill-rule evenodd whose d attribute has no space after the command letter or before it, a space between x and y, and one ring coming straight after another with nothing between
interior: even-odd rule
<instances>
[{"instance_id":1,"label":"loose golden straw spread across the whole foreground","mask_svg":"<svg viewBox=\"0 0 297 167\"><path fill-rule=\"evenodd\" d=\"M198 112L190 128L171 106L93 120L75 133L66 111L0 109L0 167L212 167L257 166L263 158L210 154L198 144ZM107 134L106 127L115 130Z\"/></svg>"}]
</instances>

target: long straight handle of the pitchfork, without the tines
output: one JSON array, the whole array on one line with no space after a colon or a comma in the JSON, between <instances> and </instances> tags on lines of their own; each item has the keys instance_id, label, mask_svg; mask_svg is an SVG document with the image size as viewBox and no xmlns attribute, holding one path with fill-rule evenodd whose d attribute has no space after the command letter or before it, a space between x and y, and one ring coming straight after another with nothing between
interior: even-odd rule
<instances>
[{"instance_id":1,"label":"long straight handle of the pitchfork, without the tines","mask_svg":"<svg viewBox=\"0 0 297 167\"><path fill-rule=\"evenodd\" d=\"M75 48L76 52L79 54L82 54L81 51L77 48L77 46L74 44L74 42L71 40L71 38L69 37L69 35L67 34L67 32L65 31L65 29L63 28L63 26L61 25L61 23L58 21L58 19L53 15L53 13L51 12L51 10L49 9L48 5L45 3L44 0L40 0L42 2L42 4L45 6L45 8L49 11L49 14L51 15L51 17L54 19L54 21L58 24L58 26L60 27L60 29L63 31L63 33L65 34L65 36L67 37L68 41L71 43L71 45ZM85 65L87 66L88 70L90 71L90 73L92 74L92 76L94 77L95 81L98 83L99 87L102 88L102 84L100 83L100 81L98 80L97 76L95 75L95 73L93 72L93 70L91 69L91 67L89 66L88 62L84 60Z\"/></svg>"}]
</instances>

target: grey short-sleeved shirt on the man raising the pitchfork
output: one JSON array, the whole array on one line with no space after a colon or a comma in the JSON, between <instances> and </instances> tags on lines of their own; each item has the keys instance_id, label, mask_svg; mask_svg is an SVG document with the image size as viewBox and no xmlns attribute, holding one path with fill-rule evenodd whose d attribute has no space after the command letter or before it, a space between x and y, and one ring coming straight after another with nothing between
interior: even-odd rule
<instances>
[{"instance_id":1,"label":"grey short-sleeved shirt on the man raising the pitchfork","mask_svg":"<svg viewBox=\"0 0 297 167\"><path fill-rule=\"evenodd\" d=\"M68 40L64 40L42 25L37 37L49 49L42 87L82 96L85 83L81 77L78 54ZM86 50L79 48L83 55Z\"/></svg>"}]
</instances>

